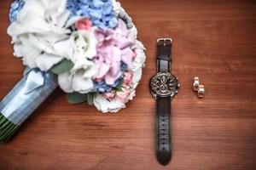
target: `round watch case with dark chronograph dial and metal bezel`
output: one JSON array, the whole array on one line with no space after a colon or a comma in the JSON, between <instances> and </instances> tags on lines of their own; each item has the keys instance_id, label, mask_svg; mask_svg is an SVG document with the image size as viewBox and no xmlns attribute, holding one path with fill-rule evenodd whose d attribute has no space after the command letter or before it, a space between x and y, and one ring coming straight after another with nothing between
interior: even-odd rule
<instances>
[{"instance_id":1,"label":"round watch case with dark chronograph dial and metal bezel","mask_svg":"<svg viewBox=\"0 0 256 170\"><path fill-rule=\"evenodd\" d=\"M156 74L150 82L150 88L154 95L160 97L173 97L177 94L179 83L177 77L168 72L160 72Z\"/></svg>"}]
</instances>

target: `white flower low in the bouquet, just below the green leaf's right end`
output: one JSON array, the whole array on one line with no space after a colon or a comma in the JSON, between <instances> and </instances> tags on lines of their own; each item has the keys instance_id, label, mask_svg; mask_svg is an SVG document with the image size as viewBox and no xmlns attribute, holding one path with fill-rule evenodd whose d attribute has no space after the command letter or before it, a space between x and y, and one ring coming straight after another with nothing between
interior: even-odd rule
<instances>
[{"instance_id":1,"label":"white flower low in the bouquet, just below the green leaf's right end","mask_svg":"<svg viewBox=\"0 0 256 170\"><path fill-rule=\"evenodd\" d=\"M92 77L96 75L96 65L88 59L79 59L73 69L59 75L61 89L66 93L87 94L94 88Z\"/></svg>"}]
</instances>

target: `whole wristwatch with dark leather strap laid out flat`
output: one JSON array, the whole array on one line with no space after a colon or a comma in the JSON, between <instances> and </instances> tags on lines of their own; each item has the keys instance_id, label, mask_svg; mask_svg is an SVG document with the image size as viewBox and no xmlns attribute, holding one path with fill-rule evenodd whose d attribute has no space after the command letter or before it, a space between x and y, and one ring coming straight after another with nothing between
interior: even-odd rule
<instances>
[{"instance_id":1,"label":"whole wristwatch with dark leather strap laid out flat","mask_svg":"<svg viewBox=\"0 0 256 170\"><path fill-rule=\"evenodd\" d=\"M162 165L172 158L171 147L171 101L180 84L171 73L172 39L157 40L157 73L150 81L150 90L156 100L156 157Z\"/></svg>"}]
</instances>

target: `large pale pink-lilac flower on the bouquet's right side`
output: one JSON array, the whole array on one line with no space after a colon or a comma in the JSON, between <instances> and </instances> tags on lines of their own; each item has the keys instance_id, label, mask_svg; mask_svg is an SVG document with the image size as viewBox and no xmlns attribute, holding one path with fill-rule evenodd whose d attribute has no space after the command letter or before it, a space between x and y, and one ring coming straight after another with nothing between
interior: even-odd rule
<instances>
[{"instance_id":1,"label":"large pale pink-lilac flower on the bouquet's right side","mask_svg":"<svg viewBox=\"0 0 256 170\"><path fill-rule=\"evenodd\" d=\"M121 64L131 66L137 55L132 50L136 36L128 31L123 20L119 20L119 26L115 30L96 30L95 34L98 39L98 57L94 59L98 65L98 74L95 78L104 79L108 85L113 85L123 74Z\"/></svg>"}]
</instances>

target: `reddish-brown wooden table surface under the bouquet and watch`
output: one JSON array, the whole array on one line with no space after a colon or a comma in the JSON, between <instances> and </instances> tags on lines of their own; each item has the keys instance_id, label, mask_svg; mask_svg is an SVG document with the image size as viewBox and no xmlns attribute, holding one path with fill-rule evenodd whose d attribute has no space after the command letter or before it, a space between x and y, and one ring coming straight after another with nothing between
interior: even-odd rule
<instances>
[{"instance_id":1,"label":"reddish-brown wooden table surface under the bouquet and watch","mask_svg":"<svg viewBox=\"0 0 256 170\"><path fill-rule=\"evenodd\" d=\"M20 80L12 56L10 0L0 3L0 98ZM255 170L256 2L245 0L122 0L147 48L137 97L119 114L68 105L57 89L0 144L0 169ZM155 102L148 81L155 73L158 37L172 37L172 71L182 84L172 102L172 162L154 156ZM194 76L206 97L192 91Z\"/></svg>"}]
</instances>

